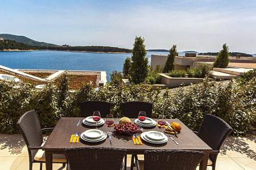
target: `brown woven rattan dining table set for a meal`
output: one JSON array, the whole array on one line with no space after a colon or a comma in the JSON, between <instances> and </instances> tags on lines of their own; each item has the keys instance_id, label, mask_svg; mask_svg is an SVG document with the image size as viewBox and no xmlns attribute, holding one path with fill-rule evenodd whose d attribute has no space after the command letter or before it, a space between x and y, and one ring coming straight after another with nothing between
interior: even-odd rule
<instances>
[{"instance_id":1,"label":"brown woven rattan dining table set for a meal","mask_svg":"<svg viewBox=\"0 0 256 170\"><path fill-rule=\"evenodd\" d=\"M168 122L179 122L182 126L180 134L175 137L175 141L179 143L176 145L174 141L168 137L168 141L161 145L155 145L147 142L143 142L143 145L134 145L131 136L122 135L113 133L113 145L110 145L109 138L106 138L105 141L91 143L84 142L80 139L79 143L70 143L69 139L71 134L76 134L93 129L95 127L86 126L80 124L77 126L79 120L83 120L82 117L61 117L57 125L53 129L51 135L49 135L46 143L43 146L43 150L46 155L46 169L52 169L52 154L64 154L65 150L68 148L80 148L80 147L113 147L113 148L123 148L127 150L127 154L142 154L145 150L160 150L160 149L169 149L169 150L193 150L193 151L202 151L205 153L204 159L200 163L200 169L207 169L207 162L209 158L209 152L212 151L204 141L202 141L192 130L185 126L180 120L177 119L167 119ZM134 122L134 118L131 118L131 121ZM157 121L157 120L155 120ZM114 123L118 124L118 118L114 119ZM113 127L108 127L106 124L98 126L99 130L108 132L114 131ZM164 129L160 129L157 126L152 128L143 128L144 131L160 131L163 132ZM109 155L111 156L111 155Z\"/></svg>"}]
</instances>

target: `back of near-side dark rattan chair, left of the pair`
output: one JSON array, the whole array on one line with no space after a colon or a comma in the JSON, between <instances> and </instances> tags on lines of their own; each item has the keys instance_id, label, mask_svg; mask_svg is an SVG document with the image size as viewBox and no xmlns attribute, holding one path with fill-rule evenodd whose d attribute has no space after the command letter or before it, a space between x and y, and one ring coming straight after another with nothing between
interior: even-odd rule
<instances>
[{"instance_id":1,"label":"back of near-side dark rattan chair, left of the pair","mask_svg":"<svg viewBox=\"0 0 256 170\"><path fill-rule=\"evenodd\" d=\"M119 148L70 148L66 150L68 169L120 170L126 150Z\"/></svg>"}]
</instances>

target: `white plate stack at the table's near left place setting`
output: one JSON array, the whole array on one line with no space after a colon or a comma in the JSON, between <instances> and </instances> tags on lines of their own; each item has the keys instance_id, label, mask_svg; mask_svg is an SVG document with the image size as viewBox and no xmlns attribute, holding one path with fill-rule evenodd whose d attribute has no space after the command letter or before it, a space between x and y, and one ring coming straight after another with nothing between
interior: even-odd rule
<instances>
[{"instance_id":1,"label":"white plate stack at the table's near left place setting","mask_svg":"<svg viewBox=\"0 0 256 170\"><path fill-rule=\"evenodd\" d=\"M84 131L80 138L86 142L100 142L104 141L108 135L101 130L90 129Z\"/></svg>"}]
</instances>

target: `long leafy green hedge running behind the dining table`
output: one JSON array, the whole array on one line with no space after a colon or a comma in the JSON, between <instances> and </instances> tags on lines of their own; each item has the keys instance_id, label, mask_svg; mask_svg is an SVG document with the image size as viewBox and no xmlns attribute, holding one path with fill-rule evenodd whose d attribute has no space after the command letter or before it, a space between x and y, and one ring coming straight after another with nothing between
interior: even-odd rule
<instances>
[{"instance_id":1,"label":"long leafy green hedge running behind the dining table","mask_svg":"<svg viewBox=\"0 0 256 170\"><path fill-rule=\"evenodd\" d=\"M223 118L232 128L234 135L251 130L256 111L256 78L247 82L221 83L205 80L203 83L182 87L176 92L153 90L146 84L106 86L95 91L86 84L79 91L68 90L68 79L63 76L60 86L47 84L43 90L35 90L30 84L0 82L0 133L18 133L16 122L19 117L35 109L42 127L54 127L62 116L79 116L78 104L83 100L102 100L114 104L112 113L120 113L120 104L125 101L149 101L153 105L153 117L165 114L167 118L179 118L192 130L198 130L205 114Z\"/></svg>"}]
</instances>

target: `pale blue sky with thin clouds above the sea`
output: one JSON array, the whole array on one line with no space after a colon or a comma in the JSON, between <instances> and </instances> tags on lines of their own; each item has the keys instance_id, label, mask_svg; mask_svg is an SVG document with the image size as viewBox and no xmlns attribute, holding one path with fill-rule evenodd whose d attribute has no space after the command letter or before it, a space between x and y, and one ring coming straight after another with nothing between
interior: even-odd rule
<instances>
[{"instance_id":1,"label":"pale blue sky with thin clouds above the sea","mask_svg":"<svg viewBox=\"0 0 256 170\"><path fill-rule=\"evenodd\" d=\"M69 45L256 53L256 1L14 1L0 2L0 33Z\"/></svg>"}]
</instances>

